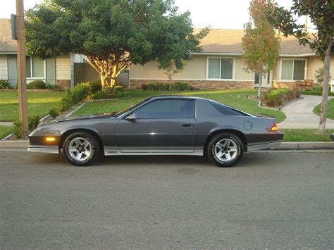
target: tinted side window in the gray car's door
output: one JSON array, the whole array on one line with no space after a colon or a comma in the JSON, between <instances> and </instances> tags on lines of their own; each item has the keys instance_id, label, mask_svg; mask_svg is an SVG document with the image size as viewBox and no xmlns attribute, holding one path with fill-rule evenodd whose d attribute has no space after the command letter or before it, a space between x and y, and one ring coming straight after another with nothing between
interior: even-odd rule
<instances>
[{"instance_id":1,"label":"tinted side window in the gray car's door","mask_svg":"<svg viewBox=\"0 0 334 250\"><path fill-rule=\"evenodd\" d=\"M193 118L194 100L162 99L151 101L135 111L136 118Z\"/></svg>"}]
</instances>

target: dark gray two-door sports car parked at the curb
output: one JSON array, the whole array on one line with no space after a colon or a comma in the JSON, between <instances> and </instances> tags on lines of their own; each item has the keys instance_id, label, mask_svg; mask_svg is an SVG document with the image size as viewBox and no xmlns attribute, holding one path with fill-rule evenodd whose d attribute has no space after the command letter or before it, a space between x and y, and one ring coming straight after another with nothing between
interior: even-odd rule
<instances>
[{"instance_id":1,"label":"dark gray two-door sports car parked at the curb","mask_svg":"<svg viewBox=\"0 0 334 250\"><path fill-rule=\"evenodd\" d=\"M63 118L29 135L30 152L65 154L74 165L101 155L207 155L220 167L245 151L282 142L275 118L262 118L191 96L151 96L123 111Z\"/></svg>"}]
</instances>

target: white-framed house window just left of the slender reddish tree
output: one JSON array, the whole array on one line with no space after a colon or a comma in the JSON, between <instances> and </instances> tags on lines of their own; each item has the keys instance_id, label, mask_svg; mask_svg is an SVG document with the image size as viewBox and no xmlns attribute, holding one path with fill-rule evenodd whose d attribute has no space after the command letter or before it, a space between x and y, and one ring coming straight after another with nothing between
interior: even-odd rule
<instances>
[{"instance_id":1,"label":"white-framed house window just left of the slender reddish tree","mask_svg":"<svg viewBox=\"0 0 334 250\"><path fill-rule=\"evenodd\" d=\"M233 79L233 58L208 58L209 79Z\"/></svg>"}]
</instances>

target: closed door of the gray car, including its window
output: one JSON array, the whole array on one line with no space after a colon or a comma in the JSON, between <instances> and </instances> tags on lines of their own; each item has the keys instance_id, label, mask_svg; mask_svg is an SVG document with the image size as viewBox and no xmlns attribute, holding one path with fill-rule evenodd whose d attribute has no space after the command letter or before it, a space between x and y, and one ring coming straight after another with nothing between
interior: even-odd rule
<instances>
[{"instance_id":1,"label":"closed door of the gray car, including its window","mask_svg":"<svg viewBox=\"0 0 334 250\"><path fill-rule=\"evenodd\" d=\"M193 152L197 138L192 99L154 99L125 116L116 130L123 153Z\"/></svg>"}]
</instances>

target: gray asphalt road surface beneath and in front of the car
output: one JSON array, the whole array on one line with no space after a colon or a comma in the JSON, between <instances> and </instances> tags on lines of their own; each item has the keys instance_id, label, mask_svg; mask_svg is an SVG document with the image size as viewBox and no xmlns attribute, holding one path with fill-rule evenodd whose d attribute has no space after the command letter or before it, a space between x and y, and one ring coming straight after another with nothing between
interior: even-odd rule
<instances>
[{"instance_id":1,"label":"gray asphalt road surface beneath and in front of the car","mask_svg":"<svg viewBox=\"0 0 334 250\"><path fill-rule=\"evenodd\" d=\"M0 152L0 249L333 249L334 151L105 158Z\"/></svg>"}]
</instances>

